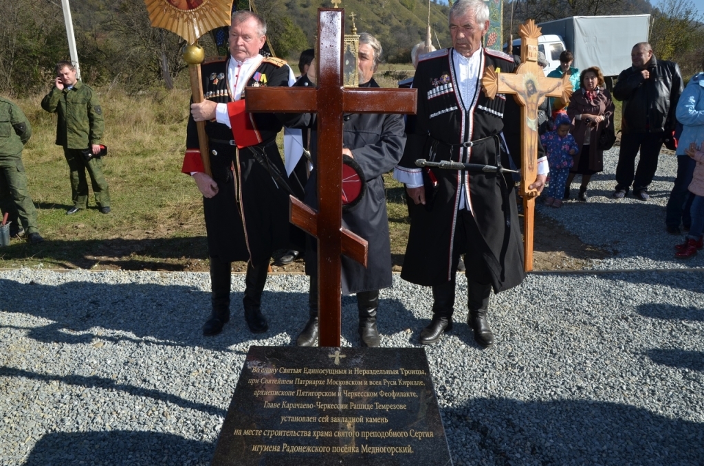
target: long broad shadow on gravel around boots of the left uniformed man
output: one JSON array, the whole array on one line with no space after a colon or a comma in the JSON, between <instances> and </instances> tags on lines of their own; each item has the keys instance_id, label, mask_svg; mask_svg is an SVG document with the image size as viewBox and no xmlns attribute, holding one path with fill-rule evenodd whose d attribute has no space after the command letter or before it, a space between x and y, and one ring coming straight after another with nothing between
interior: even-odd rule
<instances>
[{"instance_id":1,"label":"long broad shadow on gravel around boots of the left uniformed man","mask_svg":"<svg viewBox=\"0 0 704 466\"><path fill-rule=\"evenodd\" d=\"M235 285L236 286L236 285ZM235 288L233 286L233 288ZM164 346L198 346L214 351L235 351L230 346L244 342L267 344L266 339L288 334L294 342L308 321L308 293L265 291L262 312L268 318L265 334L249 332L244 321L243 294L232 293L230 322L222 334L205 337L203 323L210 314L210 293L191 286L158 284L94 284L68 282L58 286L22 284L0 279L1 310L51 320L41 327L24 329L26 336L43 343L91 344L94 341ZM392 318L391 313L396 315ZM342 336L358 345L356 296L342 297ZM379 302L379 329L382 334L420 328L402 303ZM103 329L126 332L106 334Z\"/></svg>"}]
</instances>

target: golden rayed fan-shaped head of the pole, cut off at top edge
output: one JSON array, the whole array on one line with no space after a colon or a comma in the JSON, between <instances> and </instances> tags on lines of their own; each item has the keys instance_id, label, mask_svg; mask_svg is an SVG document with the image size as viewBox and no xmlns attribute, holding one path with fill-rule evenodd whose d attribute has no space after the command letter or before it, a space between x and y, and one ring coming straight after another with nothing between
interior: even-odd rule
<instances>
[{"instance_id":1,"label":"golden rayed fan-shaped head of the pole, cut off at top edge","mask_svg":"<svg viewBox=\"0 0 704 466\"><path fill-rule=\"evenodd\" d=\"M232 0L144 0L153 27L163 27L194 44L215 27L229 26Z\"/></svg>"}]
</instances>

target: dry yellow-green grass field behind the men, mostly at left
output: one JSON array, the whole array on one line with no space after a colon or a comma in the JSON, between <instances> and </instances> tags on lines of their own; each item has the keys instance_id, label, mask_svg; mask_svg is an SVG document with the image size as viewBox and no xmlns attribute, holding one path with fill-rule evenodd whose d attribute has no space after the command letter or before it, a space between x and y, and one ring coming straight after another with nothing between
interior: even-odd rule
<instances>
[{"instance_id":1,"label":"dry yellow-green grass field behind the men, mostly at left","mask_svg":"<svg viewBox=\"0 0 704 466\"><path fill-rule=\"evenodd\" d=\"M375 79L382 87L396 87L411 75L410 64L382 65ZM202 198L180 172L189 91L181 84L180 89L137 96L115 89L99 93L112 213L99 213L91 195L87 210L65 215L72 203L68 165L61 147L54 145L56 115L42 110L42 96L16 99L34 130L23 161L46 241L30 246L12 239L10 246L0 248L0 267L207 270ZM390 175L385 182L391 253L398 270L408 237L406 200L401 184Z\"/></svg>"}]
</instances>

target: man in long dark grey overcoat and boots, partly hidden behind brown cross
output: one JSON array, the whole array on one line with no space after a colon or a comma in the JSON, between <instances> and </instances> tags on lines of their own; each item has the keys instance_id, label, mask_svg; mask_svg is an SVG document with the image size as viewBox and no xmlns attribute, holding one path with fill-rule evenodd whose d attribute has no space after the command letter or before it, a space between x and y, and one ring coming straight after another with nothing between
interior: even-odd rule
<instances>
[{"instance_id":1,"label":"man in long dark grey overcoat and boots, partly hidden behind brown cross","mask_svg":"<svg viewBox=\"0 0 704 466\"><path fill-rule=\"evenodd\" d=\"M359 87L379 87L372 78L382 58L382 46L372 35L363 32L359 39ZM310 70L314 67L311 65ZM310 70L308 75L310 75ZM303 118L314 120L308 114ZM310 123L308 122L310 125ZM313 123L314 124L314 123ZM349 114L343 118L343 155L359 165L367 182L363 199L342 214L342 226L367 240L367 267L342 256L342 293L357 294L359 335L363 346L379 346L377 308L379 289L391 286L391 244L389 219L386 216L386 191L382 175L398 163L403 154L406 135L403 115ZM310 138L317 154L318 137ZM315 168L306 186L306 203L318 206L318 176ZM318 339L318 256L317 248L306 248L306 274L310 275L310 318L298 335L298 346L313 346Z\"/></svg>"}]
</instances>

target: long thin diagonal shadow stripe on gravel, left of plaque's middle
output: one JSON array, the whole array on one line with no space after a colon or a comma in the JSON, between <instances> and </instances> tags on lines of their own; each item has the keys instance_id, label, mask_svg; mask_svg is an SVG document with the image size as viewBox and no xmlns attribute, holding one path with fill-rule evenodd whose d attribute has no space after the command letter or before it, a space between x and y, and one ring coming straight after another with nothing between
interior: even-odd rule
<instances>
[{"instance_id":1,"label":"long thin diagonal shadow stripe on gravel, left of plaque's middle","mask_svg":"<svg viewBox=\"0 0 704 466\"><path fill-rule=\"evenodd\" d=\"M153 400L166 401L168 403L173 403L181 408L187 408L191 410L199 410L202 413L207 413L213 416L225 417L227 414L226 410L220 408L215 408L215 406L206 405L203 403L194 403L193 401L188 401L180 396L172 395L171 393L165 393L163 391L143 389L139 386L118 384L113 379L107 379L105 377L84 377L82 375L51 375L51 374L37 374L37 372L30 372L22 369L15 369L14 367L0 367L0 377L24 377L25 379L41 380L43 382L51 382L56 380L63 384L84 386L87 389L107 389L122 391L124 393L129 393L134 396L144 396L146 398L152 398Z\"/></svg>"}]
</instances>

